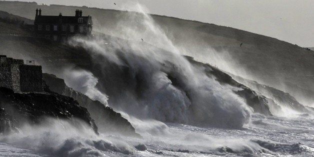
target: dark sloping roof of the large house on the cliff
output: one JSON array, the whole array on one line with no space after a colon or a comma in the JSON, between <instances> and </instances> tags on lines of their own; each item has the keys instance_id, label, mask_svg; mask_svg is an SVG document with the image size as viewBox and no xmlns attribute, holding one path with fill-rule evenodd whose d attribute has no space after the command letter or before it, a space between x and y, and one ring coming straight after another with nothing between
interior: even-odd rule
<instances>
[{"instance_id":1,"label":"dark sloping roof of the large house on the cliff","mask_svg":"<svg viewBox=\"0 0 314 157\"><path fill-rule=\"evenodd\" d=\"M83 18L82 23L78 23L78 18ZM61 23L61 24L92 24L91 16L46 16L38 15L34 23Z\"/></svg>"}]
</instances>

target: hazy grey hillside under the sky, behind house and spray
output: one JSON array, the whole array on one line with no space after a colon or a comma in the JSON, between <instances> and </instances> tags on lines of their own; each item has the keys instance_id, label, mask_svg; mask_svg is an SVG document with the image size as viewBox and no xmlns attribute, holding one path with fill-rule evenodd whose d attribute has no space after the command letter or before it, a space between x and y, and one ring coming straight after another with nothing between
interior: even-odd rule
<instances>
[{"instance_id":1,"label":"hazy grey hillside under the sky, behind house and spray","mask_svg":"<svg viewBox=\"0 0 314 157\"><path fill-rule=\"evenodd\" d=\"M25 7L27 9L24 9ZM110 9L63 5L39 6L36 3L0 1L0 10L30 19L34 18L36 8L41 8L42 14L55 15L60 11L63 15L72 15L73 10L79 8L83 10L84 15L93 17L96 29L103 27L113 31L118 21L127 18L130 13ZM218 52L228 51L229 58L232 59L231 65L242 66L245 73L250 73L257 81L290 92L299 100L303 98L302 96L311 98L314 95L313 51L272 37L231 27L160 15L152 15L152 17L167 32L168 37L177 47L190 51L189 54L192 56L197 56L197 53L206 47L211 47ZM240 43L243 43L242 47L239 47ZM25 44L21 46L28 47ZM0 45L1 47L3 44ZM8 50L11 48L6 47ZM65 55L62 49L49 50ZM72 56L69 58L71 59ZM236 71L236 74L241 73Z\"/></svg>"}]
</instances>

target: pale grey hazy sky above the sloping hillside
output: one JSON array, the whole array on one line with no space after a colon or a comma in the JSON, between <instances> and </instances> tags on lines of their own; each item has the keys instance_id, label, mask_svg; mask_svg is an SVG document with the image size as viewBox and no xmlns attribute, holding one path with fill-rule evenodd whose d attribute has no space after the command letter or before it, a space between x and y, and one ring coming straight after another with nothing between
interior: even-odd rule
<instances>
[{"instance_id":1,"label":"pale grey hazy sky above the sloping hillside","mask_svg":"<svg viewBox=\"0 0 314 157\"><path fill-rule=\"evenodd\" d=\"M131 0L20 0L124 9ZM314 47L314 0L132 0L148 13L193 19ZM116 3L116 5L113 4Z\"/></svg>"}]
</instances>

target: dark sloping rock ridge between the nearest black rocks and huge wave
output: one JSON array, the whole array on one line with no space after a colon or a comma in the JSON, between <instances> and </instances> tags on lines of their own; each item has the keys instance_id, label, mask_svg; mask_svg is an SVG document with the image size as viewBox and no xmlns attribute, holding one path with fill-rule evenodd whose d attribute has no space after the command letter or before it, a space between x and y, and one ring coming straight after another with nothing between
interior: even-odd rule
<instances>
[{"instance_id":1,"label":"dark sloping rock ridge between the nearest black rocks and huge wave","mask_svg":"<svg viewBox=\"0 0 314 157\"><path fill-rule=\"evenodd\" d=\"M86 95L73 90L64 83L63 79L53 74L43 73L43 79L51 91L72 97L78 101L79 105L86 107L91 117L95 120L100 132L115 132L134 136L139 135L135 133L134 127L111 107L105 106L101 102L92 100Z\"/></svg>"}]
</instances>

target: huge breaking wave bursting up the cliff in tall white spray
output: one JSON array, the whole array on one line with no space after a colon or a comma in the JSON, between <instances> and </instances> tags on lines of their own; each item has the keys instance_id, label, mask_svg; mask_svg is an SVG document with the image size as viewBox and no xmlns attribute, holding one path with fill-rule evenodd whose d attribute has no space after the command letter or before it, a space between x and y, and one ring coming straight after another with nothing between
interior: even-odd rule
<instances>
[{"instance_id":1,"label":"huge breaking wave bursting up the cliff in tall white spray","mask_svg":"<svg viewBox=\"0 0 314 157\"><path fill-rule=\"evenodd\" d=\"M110 97L108 105L140 118L242 127L250 108L233 93L238 89L220 84L201 67L190 64L144 9L136 7L140 15L129 16L136 23L118 23L121 31L116 36L124 39L95 36L69 41L92 56L95 70L91 72L98 79L98 89ZM141 34L156 47L134 41Z\"/></svg>"}]
</instances>

